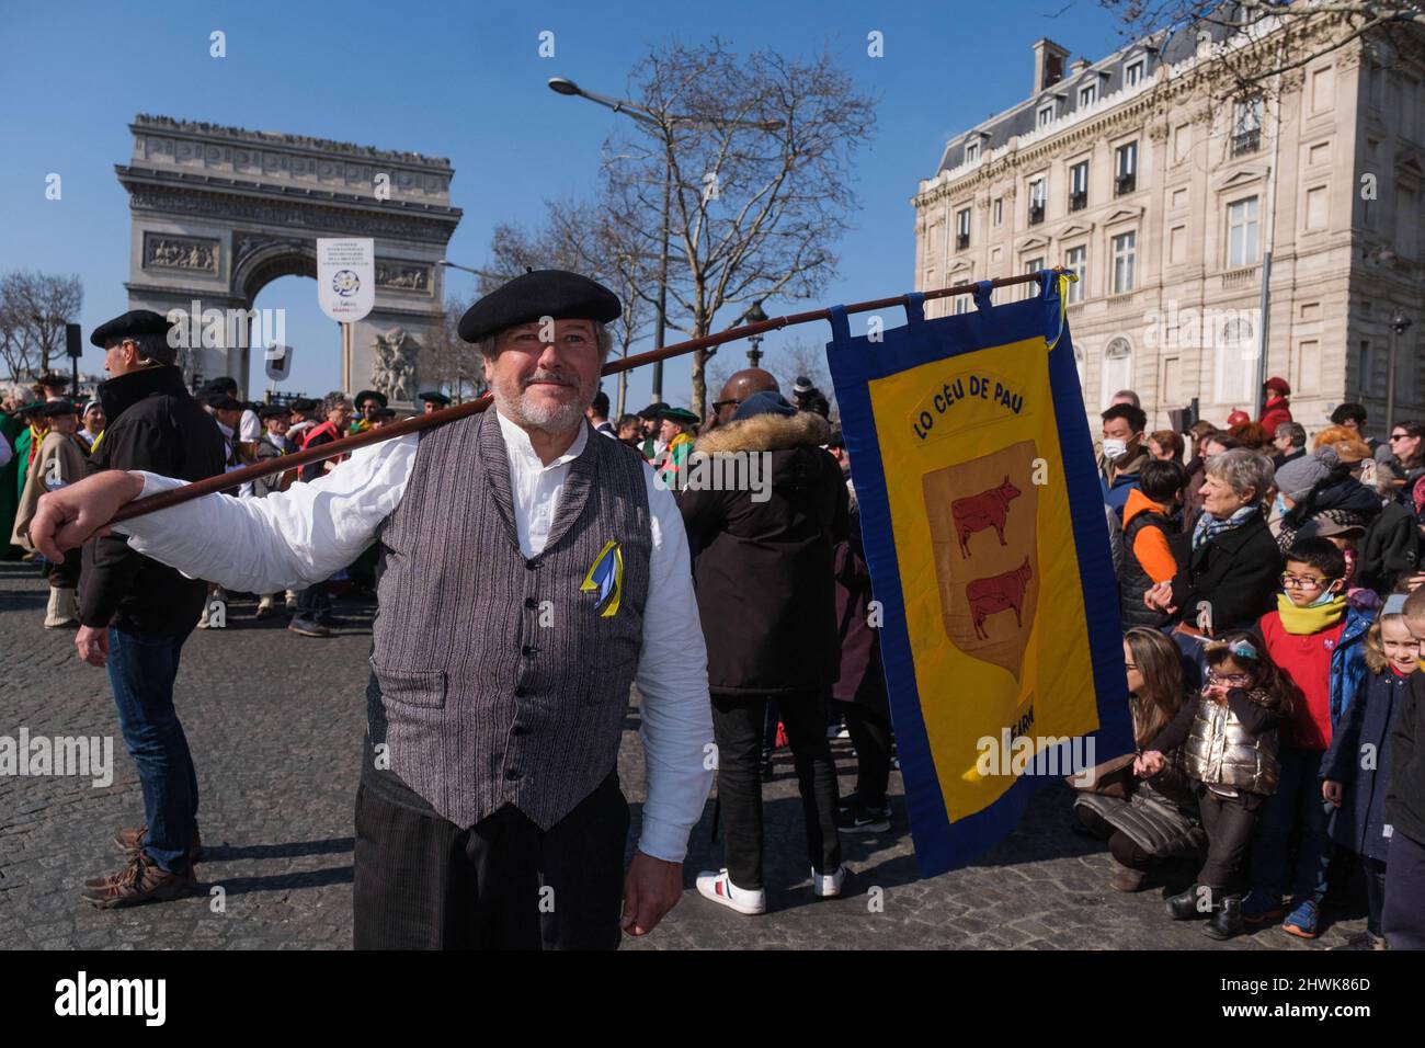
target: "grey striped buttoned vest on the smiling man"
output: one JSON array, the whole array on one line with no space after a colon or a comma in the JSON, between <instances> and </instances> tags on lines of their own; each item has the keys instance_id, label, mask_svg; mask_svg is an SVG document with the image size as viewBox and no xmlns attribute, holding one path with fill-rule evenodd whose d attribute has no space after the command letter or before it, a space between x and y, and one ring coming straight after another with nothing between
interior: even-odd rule
<instances>
[{"instance_id":1,"label":"grey striped buttoned vest on the smiling man","mask_svg":"<svg viewBox=\"0 0 1425 1048\"><path fill-rule=\"evenodd\" d=\"M422 433L378 530L366 716L389 770L452 823L514 804L547 830L614 769L648 595L646 469L589 431L526 560L494 411ZM583 583L610 539L623 586L604 615Z\"/></svg>"}]
</instances>

